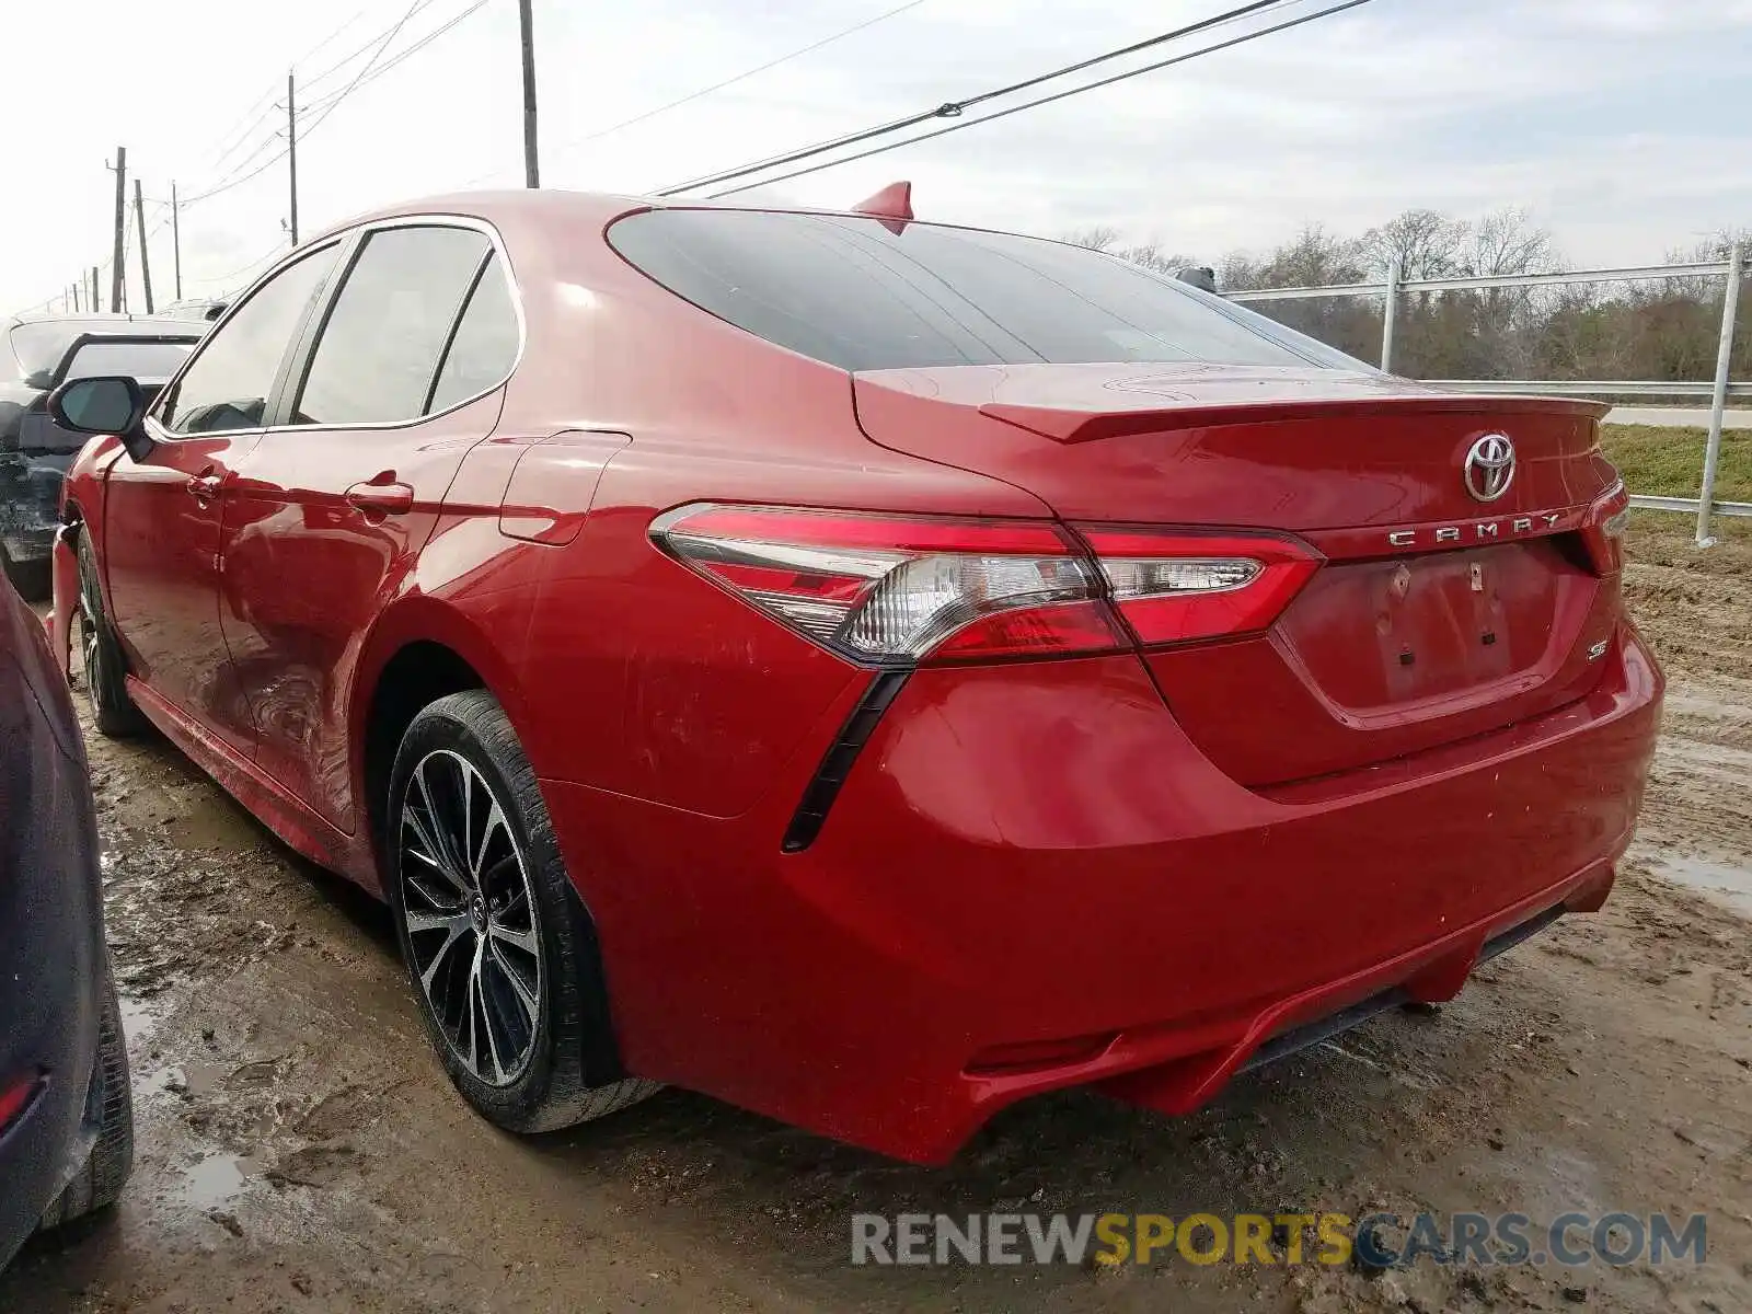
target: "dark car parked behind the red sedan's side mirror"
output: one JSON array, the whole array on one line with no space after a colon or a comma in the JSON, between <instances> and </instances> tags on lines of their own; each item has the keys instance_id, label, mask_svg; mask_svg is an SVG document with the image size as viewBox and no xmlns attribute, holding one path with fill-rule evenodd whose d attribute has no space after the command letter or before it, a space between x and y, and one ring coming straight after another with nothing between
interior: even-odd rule
<instances>
[{"instance_id":1,"label":"dark car parked behind the red sedan's side mirror","mask_svg":"<svg viewBox=\"0 0 1752 1314\"><path fill-rule=\"evenodd\" d=\"M151 315L0 321L0 568L25 597L47 592L61 477L86 440L54 424L49 392L89 375L131 375L156 391L205 328Z\"/></svg>"}]
</instances>

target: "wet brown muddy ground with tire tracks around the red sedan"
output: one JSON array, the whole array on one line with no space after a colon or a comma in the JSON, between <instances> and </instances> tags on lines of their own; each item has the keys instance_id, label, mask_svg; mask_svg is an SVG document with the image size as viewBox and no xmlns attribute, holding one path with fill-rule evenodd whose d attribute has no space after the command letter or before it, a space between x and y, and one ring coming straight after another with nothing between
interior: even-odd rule
<instances>
[{"instance_id":1,"label":"wet brown muddy ground with tire tracks around the red sedan","mask_svg":"<svg viewBox=\"0 0 1752 1314\"><path fill-rule=\"evenodd\" d=\"M91 738L138 1167L0 1310L1752 1310L1752 538L1642 515L1673 690L1605 913L1244 1077L1186 1120L1091 1095L916 1169L683 1091L517 1141L449 1090L389 922L158 739ZM853 1268L855 1211L1708 1211L1624 1268Z\"/></svg>"}]
</instances>

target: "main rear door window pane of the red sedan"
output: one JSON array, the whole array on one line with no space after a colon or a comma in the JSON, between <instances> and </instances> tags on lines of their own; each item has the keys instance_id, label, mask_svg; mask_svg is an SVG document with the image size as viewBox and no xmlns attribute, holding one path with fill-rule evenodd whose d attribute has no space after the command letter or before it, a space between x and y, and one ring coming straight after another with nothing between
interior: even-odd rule
<instances>
[{"instance_id":1,"label":"main rear door window pane of the red sedan","mask_svg":"<svg viewBox=\"0 0 1752 1314\"><path fill-rule=\"evenodd\" d=\"M450 329L491 252L473 228L371 233L322 326L289 422L394 424L426 413Z\"/></svg>"}]
</instances>

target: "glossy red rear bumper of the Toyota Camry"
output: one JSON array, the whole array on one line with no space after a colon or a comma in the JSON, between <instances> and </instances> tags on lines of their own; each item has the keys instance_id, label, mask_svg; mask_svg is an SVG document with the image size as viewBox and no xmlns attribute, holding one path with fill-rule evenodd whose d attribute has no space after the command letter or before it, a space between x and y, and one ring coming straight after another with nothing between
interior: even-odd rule
<instances>
[{"instance_id":1,"label":"glossy red rear bumper of the Toyota Camry","mask_svg":"<svg viewBox=\"0 0 1752 1314\"><path fill-rule=\"evenodd\" d=\"M1447 999L1493 937L1598 908L1663 689L1629 629L1605 662L1580 703L1270 795L1132 657L920 671L790 855L815 755L732 820L543 788L631 1070L934 1162L1058 1086L1193 1109L1272 1037Z\"/></svg>"}]
</instances>

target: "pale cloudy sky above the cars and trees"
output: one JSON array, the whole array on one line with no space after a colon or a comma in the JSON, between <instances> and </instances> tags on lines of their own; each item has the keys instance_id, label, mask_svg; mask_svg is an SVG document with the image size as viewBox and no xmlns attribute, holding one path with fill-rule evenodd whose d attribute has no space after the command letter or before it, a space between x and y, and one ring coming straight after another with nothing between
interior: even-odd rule
<instances>
[{"instance_id":1,"label":"pale cloudy sky above the cars and trees","mask_svg":"<svg viewBox=\"0 0 1752 1314\"><path fill-rule=\"evenodd\" d=\"M406 0L11 5L0 310L58 296L109 259L105 161L117 144L144 184L161 303L173 291L161 203L172 179L182 196L235 182L182 210L186 296L231 291L265 268L284 242L287 177L275 156L287 68L310 105L300 116L303 235L408 196L517 186L517 0L413 4L382 63L463 18L343 100L373 39L408 14ZM1228 7L902 4L534 0L543 184L652 191ZM1318 7L1298 0L1282 16ZM802 58L604 133L895 9ZM1307 221L1360 231L1414 205L1458 215L1519 205L1556 233L1572 265L1636 265L1752 224L1748 70L1752 0L1370 0L753 194L843 207L906 177L920 217L1037 233L1113 224L1205 259L1270 247ZM128 201L131 228L131 182ZM138 308L135 242L131 233L128 300ZM107 273L102 286L107 296Z\"/></svg>"}]
</instances>

